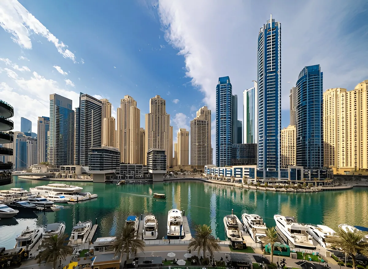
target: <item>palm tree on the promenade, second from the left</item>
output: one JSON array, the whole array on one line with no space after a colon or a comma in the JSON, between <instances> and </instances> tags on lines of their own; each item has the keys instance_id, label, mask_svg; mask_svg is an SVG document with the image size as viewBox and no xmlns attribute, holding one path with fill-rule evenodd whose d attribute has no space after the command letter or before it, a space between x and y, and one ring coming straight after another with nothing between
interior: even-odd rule
<instances>
[{"instance_id":1,"label":"palm tree on the promenade, second from the left","mask_svg":"<svg viewBox=\"0 0 368 269\"><path fill-rule=\"evenodd\" d=\"M125 225L123 229L121 229L121 233L116 236L116 239L113 244L113 248L115 250L115 255L119 252L124 252L127 254L127 259L130 258L130 254L134 252L137 254L137 250L141 250L144 252L143 248L146 243L143 240L135 238L135 230L133 225Z\"/></svg>"}]
</instances>

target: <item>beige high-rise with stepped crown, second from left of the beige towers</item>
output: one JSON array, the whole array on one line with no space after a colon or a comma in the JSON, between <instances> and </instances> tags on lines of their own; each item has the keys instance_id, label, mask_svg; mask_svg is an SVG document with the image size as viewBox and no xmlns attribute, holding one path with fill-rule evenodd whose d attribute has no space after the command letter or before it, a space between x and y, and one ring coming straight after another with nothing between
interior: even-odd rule
<instances>
[{"instance_id":1,"label":"beige high-rise with stepped crown, second from left of the beige towers","mask_svg":"<svg viewBox=\"0 0 368 269\"><path fill-rule=\"evenodd\" d=\"M125 164L140 164L141 162L141 111L137 101L125 95L120 100L117 109L117 147L120 151L120 161Z\"/></svg>"}]
</instances>

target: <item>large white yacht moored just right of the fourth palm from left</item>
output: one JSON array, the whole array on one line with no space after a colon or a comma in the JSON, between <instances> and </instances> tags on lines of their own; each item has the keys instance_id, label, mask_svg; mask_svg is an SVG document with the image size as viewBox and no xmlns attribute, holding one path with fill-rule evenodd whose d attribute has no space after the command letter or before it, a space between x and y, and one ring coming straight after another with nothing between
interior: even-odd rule
<instances>
[{"instance_id":1,"label":"large white yacht moored just right of the fourth palm from left","mask_svg":"<svg viewBox=\"0 0 368 269\"><path fill-rule=\"evenodd\" d=\"M294 217L282 215L273 216L276 222L276 230L280 237L290 247L315 249L312 236L308 233L309 227L297 223Z\"/></svg>"}]
</instances>

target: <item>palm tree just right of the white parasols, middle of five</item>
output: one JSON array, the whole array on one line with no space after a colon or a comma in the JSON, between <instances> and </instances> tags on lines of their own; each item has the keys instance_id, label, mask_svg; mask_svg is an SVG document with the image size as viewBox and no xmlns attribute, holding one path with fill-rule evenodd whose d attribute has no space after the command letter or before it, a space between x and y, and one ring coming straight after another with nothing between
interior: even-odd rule
<instances>
[{"instance_id":1,"label":"palm tree just right of the white parasols, middle of five","mask_svg":"<svg viewBox=\"0 0 368 269\"><path fill-rule=\"evenodd\" d=\"M208 250L213 255L213 251L220 251L219 242L212 235L211 226L197 225L194 228L194 236L189 242L188 249L190 247L194 247L193 251L198 248L198 261L199 261L199 252L203 250L203 257L206 258L206 250ZM199 261L200 262L200 261Z\"/></svg>"}]
</instances>

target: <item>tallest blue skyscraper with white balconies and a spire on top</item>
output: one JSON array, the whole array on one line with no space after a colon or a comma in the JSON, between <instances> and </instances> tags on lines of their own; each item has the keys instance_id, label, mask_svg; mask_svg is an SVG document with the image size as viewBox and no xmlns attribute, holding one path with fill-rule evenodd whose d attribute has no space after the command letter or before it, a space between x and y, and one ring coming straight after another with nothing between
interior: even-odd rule
<instances>
[{"instance_id":1,"label":"tallest blue skyscraper with white balconies and a spire on top","mask_svg":"<svg viewBox=\"0 0 368 269\"><path fill-rule=\"evenodd\" d=\"M258 168L280 171L281 24L272 15L259 31L257 70Z\"/></svg>"}]
</instances>

